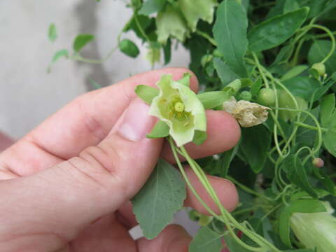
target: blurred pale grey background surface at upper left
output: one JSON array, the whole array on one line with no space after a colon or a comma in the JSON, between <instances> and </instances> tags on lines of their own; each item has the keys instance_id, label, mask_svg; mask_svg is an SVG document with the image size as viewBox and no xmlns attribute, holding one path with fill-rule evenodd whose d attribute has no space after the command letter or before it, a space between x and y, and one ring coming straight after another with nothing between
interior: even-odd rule
<instances>
[{"instance_id":1,"label":"blurred pale grey background surface at upper left","mask_svg":"<svg viewBox=\"0 0 336 252\"><path fill-rule=\"evenodd\" d=\"M88 77L100 85L111 85L151 69L144 59L146 48L129 32L123 37L141 47L137 59L116 51L104 64L62 59L50 74L45 71L53 52L70 49L79 33L96 36L85 48L87 57L104 57L116 45L117 34L130 18L125 1L1 0L0 10L0 130L11 137L22 137L71 99L92 89ZM50 22L57 26L59 38L55 43L47 37ZM189 60L179 46L169 66L188 66Z\"/></svg>"}]
</instances>

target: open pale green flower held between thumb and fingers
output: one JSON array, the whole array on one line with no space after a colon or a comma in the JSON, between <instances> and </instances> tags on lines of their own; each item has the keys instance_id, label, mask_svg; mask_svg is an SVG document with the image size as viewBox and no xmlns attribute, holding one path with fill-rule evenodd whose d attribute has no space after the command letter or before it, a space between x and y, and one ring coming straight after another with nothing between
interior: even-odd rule
<instances>
[{"instance_id":1,"label":"open pale green flower held between thumb and fingers","mask_svg":"<svg viewBox=\"0 0 336 252\"><path fill-rule=\"evenodd\" d=\"M169 134L182 146L193 141L195 130L207 130L207 118L202 103L189 88L190 75L179 81L164 75L156 84L160 93L153 99L149 114L169 126ZM188 80L188 81L186 81Z\"/></svg>"}]
</instances>

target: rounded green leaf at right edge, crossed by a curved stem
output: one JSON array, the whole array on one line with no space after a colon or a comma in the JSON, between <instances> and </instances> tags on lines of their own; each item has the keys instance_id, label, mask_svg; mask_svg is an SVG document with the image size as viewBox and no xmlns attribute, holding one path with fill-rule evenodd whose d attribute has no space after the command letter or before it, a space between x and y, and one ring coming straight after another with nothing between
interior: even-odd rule
<instances>
[{"instance_id":1,"label":"rounded green leaf at right edge, crossed by a curved stem","mask_svg":"<svg viewBox=\"0 0 336 252\"><path fill-rule=\"evenodd\" d=\"M328 40L317 40L314 41L313 45L308 52L308 62L309 64L314 64L321 62L325 56L328 55L331 49L331 41ZM336 54L332 53L331 57L325 62L325 69L328 74L336 71Z\"/></svg>"}]
</instances>

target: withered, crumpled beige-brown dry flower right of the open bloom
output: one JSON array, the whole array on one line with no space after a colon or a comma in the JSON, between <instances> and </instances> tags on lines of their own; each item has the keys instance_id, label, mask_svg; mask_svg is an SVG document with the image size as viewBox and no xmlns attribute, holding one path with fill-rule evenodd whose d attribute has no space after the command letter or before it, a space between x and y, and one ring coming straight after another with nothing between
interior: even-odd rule
<instances>
[{"instance_id":1,"label":"withered, crumpled beige-brown dry flower right of the open bloom","mask_svg":"<svg viewBox=\"0 0 336 252\"><path fill-rule=\"evenodd\" d=\"M264 123L269 111L268 107L253 102L244 100L237 102L235 97L224 102L223 109L234 116L241 127L252 127Z\"/></svg>"}]
</instances>

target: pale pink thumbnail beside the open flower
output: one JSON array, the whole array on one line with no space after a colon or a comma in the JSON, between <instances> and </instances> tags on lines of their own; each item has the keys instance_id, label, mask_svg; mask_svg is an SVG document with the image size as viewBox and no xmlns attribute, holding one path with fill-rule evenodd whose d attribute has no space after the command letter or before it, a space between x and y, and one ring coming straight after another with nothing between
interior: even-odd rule
<instances>
[{"instance_id":1,"label":"pale pink thumbnail beside the open flower","mask_svg":"<svg viewBox=\"0 0 336 252\"><path fill-rule=\"evenodd\" d=\"M123 123L119 127L119 134L130 141L139 141L153 127L154 118L148 115L149 106L139 99L135 99L128 106Z\"/></svg>"}]
</instances>

